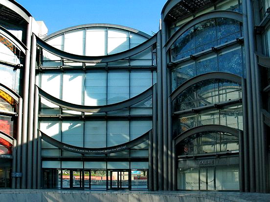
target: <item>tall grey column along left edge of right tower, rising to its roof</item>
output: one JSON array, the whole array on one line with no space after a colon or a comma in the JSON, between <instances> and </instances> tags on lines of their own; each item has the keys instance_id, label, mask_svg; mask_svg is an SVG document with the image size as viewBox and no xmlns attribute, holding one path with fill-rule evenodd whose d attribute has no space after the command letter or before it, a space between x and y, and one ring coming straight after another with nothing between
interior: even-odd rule
<instances>
[{"instance_id":1,"label":"tall grey column along left edge of right tower, rising to its roof","mask_svg":"<svg viewBox=\"0 0 270 202\"><path fill-rule=\"evenodd\" d=\"M161 16L161 19L163 17ZM167 55L164 44L166 43L166 23L161 21L162 44L162 122L163 122L163 190L168 190L168 86L167 86Z\"/></svg>"}]
</instances>

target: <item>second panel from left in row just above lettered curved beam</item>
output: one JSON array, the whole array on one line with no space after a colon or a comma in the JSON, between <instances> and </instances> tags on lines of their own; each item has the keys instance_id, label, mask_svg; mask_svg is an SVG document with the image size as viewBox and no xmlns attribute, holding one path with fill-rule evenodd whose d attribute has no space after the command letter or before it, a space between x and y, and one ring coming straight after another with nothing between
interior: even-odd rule
<instances>
[{"instance_id":1,"label":"second panel from left in row just above lettered curved beam","mask_svg":"<svg viewBox=\"0 0 270 202\"><path fill-rule=\"evenodd\" d=\"M63 121L62 142L83 147L83 121Z\"/></svg>"}]
</instances>

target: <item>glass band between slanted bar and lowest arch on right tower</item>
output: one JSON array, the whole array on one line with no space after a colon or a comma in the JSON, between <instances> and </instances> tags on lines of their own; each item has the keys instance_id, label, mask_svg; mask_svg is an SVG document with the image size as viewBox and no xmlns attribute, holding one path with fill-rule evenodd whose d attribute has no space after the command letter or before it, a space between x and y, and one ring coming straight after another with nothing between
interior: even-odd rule
<instances>
[{"instance_id":1,"label":"glass band between slanted bar and lowest arch on right tower","mask_svg":"<svg viewBox=\"0 0 270 202\"><path fill-rule=\"evenodd\" d=\"M207 124L225 125L243 130L242 105L224 107L223 109L208 110L202 113L182 115L177 120L177 134L193 127Z\"/></svg>"}]
</instances>

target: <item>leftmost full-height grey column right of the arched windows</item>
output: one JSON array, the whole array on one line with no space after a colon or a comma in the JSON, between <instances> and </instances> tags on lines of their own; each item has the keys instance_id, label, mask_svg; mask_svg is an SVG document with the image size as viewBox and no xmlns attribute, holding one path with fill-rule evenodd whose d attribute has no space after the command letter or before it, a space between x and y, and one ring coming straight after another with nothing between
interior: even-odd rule
<instances>
[{"instance_id":1,"label":"leftmost full-height grey column right of the arched windows","mask_svg":"<svg viewBox=\"0 0 270 202\"><path fill-rule=\"evenodd\" d=\"M249 0L247 0L249 1ZM254 128L253 128L253 104L252 104L252 87L249 60L249 36L248 36L248 19L247 19L247 1L243 3L243 29L244 29L244 45L245 45L245 64L247 72L247 100L248 100L248 148L249 148L249 191L255 192L255 163L254 163Z\"/></svg>"}]
</instances>

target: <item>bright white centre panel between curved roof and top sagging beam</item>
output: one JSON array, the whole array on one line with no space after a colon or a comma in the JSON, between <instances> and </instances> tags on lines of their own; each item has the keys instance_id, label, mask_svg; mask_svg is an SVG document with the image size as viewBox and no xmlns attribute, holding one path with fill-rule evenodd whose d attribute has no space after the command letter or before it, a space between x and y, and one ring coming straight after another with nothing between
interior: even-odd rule
<instances>
[{"instance_id":1,"label":"bright white centre panel between curved roof and top sagging beam","mask_svg":"<svg viewBox=\"0 0 270 202\"><path fill-rule=\"evenodd\" d=\"M107 55L106 48L107 29L88 29L86 32L86 55L104 56Z\"/></svg>"}]
</instances>

